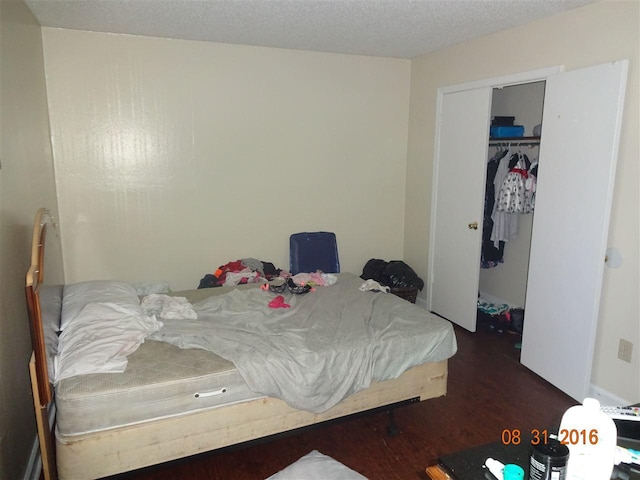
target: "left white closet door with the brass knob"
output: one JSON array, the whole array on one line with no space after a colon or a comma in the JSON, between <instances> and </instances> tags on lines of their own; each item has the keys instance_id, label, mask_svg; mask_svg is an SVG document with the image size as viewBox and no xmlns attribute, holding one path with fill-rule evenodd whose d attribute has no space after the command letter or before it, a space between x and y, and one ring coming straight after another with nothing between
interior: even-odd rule
<instances>
[{"instance_id":1,"label":"left white closet door with the brass knob","mask_svg":"<svg viewBox=\"0 0 640 480\"><path fill-rule=\"evenodd\" d=\"M429 308L476 329L491 88L443 94L434 175ZM477 224L477 229L469 227Z\"/></svg>"}]
</instances>

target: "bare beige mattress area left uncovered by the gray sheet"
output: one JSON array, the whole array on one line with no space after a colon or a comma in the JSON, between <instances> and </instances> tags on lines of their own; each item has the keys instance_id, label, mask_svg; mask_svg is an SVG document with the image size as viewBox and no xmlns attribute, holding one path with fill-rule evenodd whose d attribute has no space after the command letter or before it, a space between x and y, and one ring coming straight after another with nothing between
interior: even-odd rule
<instances>
[{"instance_id":1,"label":"bare beige mattress area left uncovered by the gray sheet","mask_svg":"<svg viewBox=\"0 0 640 480\"><path fill-rule=\"evenodd\" d=\"M195 303L231 288L172 295L185 296ZM128 360L124 373L78 375L58 383L55 400L59 437L129 426L263 396L249 389L233 363L206 350L181 349L147 340Z\"/></svg>"}]
</instances>

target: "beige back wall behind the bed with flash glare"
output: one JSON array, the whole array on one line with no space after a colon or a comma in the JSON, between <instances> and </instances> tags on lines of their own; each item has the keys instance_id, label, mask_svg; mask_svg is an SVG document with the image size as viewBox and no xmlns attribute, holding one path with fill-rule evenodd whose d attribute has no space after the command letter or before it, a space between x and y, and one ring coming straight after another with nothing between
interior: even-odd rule
<instances>
[{"instance_id":1,"label":"beige back wall behind the bed with flash glare","mask_svg":"<svg viewBox=\"0 0 640 480\"><path fill-rule=\"evenodd\" d=\"M410 61L43 29L67 281L400 258Z\"/></svg>"}]
</instances>

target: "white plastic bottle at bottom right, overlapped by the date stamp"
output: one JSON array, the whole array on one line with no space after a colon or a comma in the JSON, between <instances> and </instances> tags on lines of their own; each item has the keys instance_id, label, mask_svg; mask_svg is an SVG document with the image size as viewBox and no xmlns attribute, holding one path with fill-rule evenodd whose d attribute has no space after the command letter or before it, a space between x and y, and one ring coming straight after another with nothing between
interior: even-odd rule
<instances>
[{"instance_id":1,"label":"white plastic bottle at bottom right, overlapped by the date stamp","mask_svg":"<svg viewBox=\"0 0 640 480\"><path fill-rule=\"evenodd\" d=\"M569 447L566 480L609 480L618 442L616 424L600 411L600 402L585 398L562 417L558 440Z\"/></svg>"}]
</instances>

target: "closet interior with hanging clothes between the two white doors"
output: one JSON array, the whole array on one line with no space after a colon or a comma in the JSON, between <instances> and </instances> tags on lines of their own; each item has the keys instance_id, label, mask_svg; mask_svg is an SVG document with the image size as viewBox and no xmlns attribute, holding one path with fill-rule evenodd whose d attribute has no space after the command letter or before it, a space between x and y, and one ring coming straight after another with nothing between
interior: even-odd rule
<instances>
[{"instance_id":1,"label":"closet interior with hanging clothes between the two white doors","mask_svg":"<svg viewBox=\"0 0 640 480\"><path fill-rule=\"evenodd\" d=\"M526 209L528 213L505 215L494 212L495 200L500 198L500 186L495 185L495 177L498 171L504 173L505 165L513 165L516 159L525 162L526 170L532 173L526 173L531 185L528 192L532 194L531 198L535 198L535 191L531 190L535 187L538 170L543 168L540 165L536 168L536 164L540 153L539 130L542 124L544 88L545 82L540 81L492 90L492 123L501 123L500 117L512 117L515 125L524 127L522 138L489 139L483 221L479 225L482 228L482 247L478 291L481 299L495 305L507 304L511 308L525 306L535 205ZM499 168L500 164L502 168ZM500 178L498 183L501 183ZM524 178L522 180L523 184L527 181ZM505 238L506 241L497 240L499 243L496 243L491 240L492 227L495 226L492 215L508 215L509 221L517 228L517 234L512 236L505 232L500 236L499 232L495 232L498 238ZM493 235L494 238L496 234Z\"/></svg>"}]
</instances>

